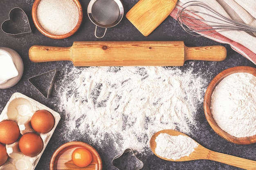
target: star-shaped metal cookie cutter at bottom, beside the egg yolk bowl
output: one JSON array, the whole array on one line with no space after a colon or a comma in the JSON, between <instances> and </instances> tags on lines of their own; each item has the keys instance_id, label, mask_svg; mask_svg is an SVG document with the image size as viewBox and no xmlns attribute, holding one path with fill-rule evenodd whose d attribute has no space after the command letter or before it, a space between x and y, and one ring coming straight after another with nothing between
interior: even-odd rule
<instances>
[{"instance_id":1,"label":"star-shaped metal cookie cutter at bottom, beside the egg yolk bowl","mask_svg":"<svg viewBox=\"0 0 256 170\"><path fill-rule=\"evenodd\" d=\"M138 159L138 155L138 152L134 152L132 148L128 147L120 155L117 155L112 159L112 165L118 170L124 170L124 168L127 168L126 166L132 166L132 169L140 170L143 168L144 164ZM123 160L121 159L122 157L126 157L126 159ZM118 161L118 159L120 159L120 161ZM124 165L123 162L127 162L127 164ZM119 164L121 164L121 166L119 166ZM129 169L131 169L131 167L129 167Z\"/></svg>"}]
</instances>

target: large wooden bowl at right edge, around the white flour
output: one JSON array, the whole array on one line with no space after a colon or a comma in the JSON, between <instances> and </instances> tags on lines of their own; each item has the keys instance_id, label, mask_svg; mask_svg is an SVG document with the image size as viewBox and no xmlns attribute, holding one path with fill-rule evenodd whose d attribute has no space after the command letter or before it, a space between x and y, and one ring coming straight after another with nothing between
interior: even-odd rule
<instances>
[{"instance_id":1,"label":"large wooden bowl at right edge, around the white flour","mask_svg":"<svg viewBox=\"0 0 256 170\"><path fill-rule=\"evenodd\" d=\"M250 73L256 76L256 68L249 67L249 66L237 66L228 68L213 78L211 83L209 84L206 93L204 95L204 114L205 117L210 124L211 128L222 138L230 141L234 144L254 144L256 143L256 135L250 137L234 137L229 133L222 130L213 119L213 115L211 114L211 95L214 91L214 88L220 83L222 79L231 75L233 73Z\"/></svg>"}]
</instances>

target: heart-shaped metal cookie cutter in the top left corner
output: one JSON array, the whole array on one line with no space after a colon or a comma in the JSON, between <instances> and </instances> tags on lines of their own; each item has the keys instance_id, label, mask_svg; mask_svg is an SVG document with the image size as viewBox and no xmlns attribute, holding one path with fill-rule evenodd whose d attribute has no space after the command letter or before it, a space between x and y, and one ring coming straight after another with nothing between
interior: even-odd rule
<instances>
[{"instance_id":1,"label":"heart-shaped metal cookie cutter in the top left corner","mask_svg":"<svg viewBox=\"0 0 256 170\"><path fill-rule=\"evenodd\" d=\"M16 37L22 37L23 35L32 32L29 18L25 11L19 7L11 9L9 12L9 19L1 24L1 29L4 33L15 35Z\"/></svg>"}]
</instances>

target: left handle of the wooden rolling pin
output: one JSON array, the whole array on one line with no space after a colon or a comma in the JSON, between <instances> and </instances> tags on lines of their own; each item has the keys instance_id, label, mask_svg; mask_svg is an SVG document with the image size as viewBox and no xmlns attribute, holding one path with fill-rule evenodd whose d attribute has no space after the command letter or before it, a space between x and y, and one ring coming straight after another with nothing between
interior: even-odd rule
<instances>
[{"instance_id":1,"label":"left handle of the wooden rolling pin","mask_svg":"<svg viewBox=\"0 0 256 170\"><path fill-rule=\"evenodd\" d=\"M34 45L29 48L29 59L32 62L73 62L72 48Z\"/></svg>"}]
</instances>

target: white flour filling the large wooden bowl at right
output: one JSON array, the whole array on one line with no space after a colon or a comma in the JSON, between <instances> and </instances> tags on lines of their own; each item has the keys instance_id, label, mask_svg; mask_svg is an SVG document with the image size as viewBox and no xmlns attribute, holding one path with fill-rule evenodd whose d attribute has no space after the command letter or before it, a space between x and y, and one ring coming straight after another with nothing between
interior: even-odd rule
<instances>
[{"instance_id":1,"label":"white flour filling the large wooden bowl at right","mask_svg":"<svg viewBox=\"0 0 256 170\"><path fill-rule=\"evenodd\" d=\"M256 135L256 77L233 73L216 86L211 111L222 130L235 137Z\"/></svg>"}]
</instances>

